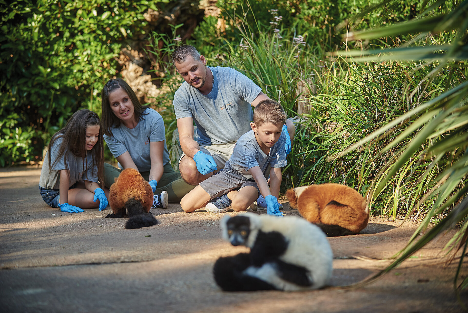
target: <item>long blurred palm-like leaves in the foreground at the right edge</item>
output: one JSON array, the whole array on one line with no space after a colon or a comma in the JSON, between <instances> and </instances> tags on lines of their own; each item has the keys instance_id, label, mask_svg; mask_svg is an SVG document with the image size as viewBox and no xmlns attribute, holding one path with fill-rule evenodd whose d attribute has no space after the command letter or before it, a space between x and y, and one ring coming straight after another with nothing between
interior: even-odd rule
<instances>
[{"instance_id":1,"label":"long blurred palm-like leaves in the foreground at the right edge","mask_svg":"<svg viewBox=\"0 0 468 313\"><path fill-rule=\"evenodd\" d=\"M468 1L461 1L457 7L446 5L446 1L435 1L426 11L431 12L438 6L448 8L447 12L442 15L424 16L419 20L396 24L388 28L348 34L348 38L351 39L372 39L421 30L440 32L436 40L430 44L426 44L424 37L431 34L423 33L415 37L412 46L395 50L380 50L379 55L376 55L375 50L369 51L364 53L367 54L366 57L353 59L357 62L414 59L417 62L413 66L415 71L429 68L430 72L421 80L413 80L414 83L417 82L417 86L413 87L411 95L420 93L422 99L418 98L418 101L408 108L407 112L344 150L341 155L363 144L368 144L375 138L388 137L390 130L402 124L405 125L405 129L398 136L388 138L386 146L380 150L380 154L392 151L395 157L388 159L376 175L368 194L374 199L380 194L387 194L387 197L390 196L390 199L393 197L394 202L398 202L403 195L402 191L406 189L409 198L412 198L412 201L407 203L409 208L420 210L425 206L426 215L407 246L395 256L395 261L371 279L395 268L433 238L453 225L459 224L461 229L446 246L449 251L462 250L462 257L454 279L454 287L458 295L459 289L468 286L467 278L461 284L457 283L468 242L468 198L466 197L468 191L468 82L466 81L468 75L466 67ZM363 54L362 52L351 53ZM344 53L344 55L350 55L350 53ZM431 62L424 64L419 61L424 59L429 59ZM439 79L440 82L437 82ZM437 84L436 88L433 86L434 83ZM432 92L433 90L435 92ZM411 178L415 177L415 173L418 174L417 179L414 183L408 183ZM393 194L386 192L389 185L395 186ZM433 222L436 225L418 238L418 235Z\"/></svg>"}]
</instances>

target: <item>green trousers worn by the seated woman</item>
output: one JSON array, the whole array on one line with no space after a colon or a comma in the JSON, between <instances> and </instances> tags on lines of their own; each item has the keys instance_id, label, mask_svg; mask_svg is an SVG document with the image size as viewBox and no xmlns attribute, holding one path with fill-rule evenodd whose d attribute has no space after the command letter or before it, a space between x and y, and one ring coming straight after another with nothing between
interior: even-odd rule
<instances>
[{"instance_id":1,"label":"green trousers worn by the seated woman","mask_svg":"<svg viewBox=\"0 0 468 313\"><path fill-rule=\"evenodd\" d=\"M123 170L118 169L109 163L104 163L104 186L110 188L115 181L115 178L120 175ZM149 171L140 172L144 179L149 179ZM161 179L158 181L157 189L154 194L161 194L164 190L168 192L169 202L180 202L184 195L195 188L187 184L178 171L174 171L171 164L164 165L164 171Z\"/></svg>"}]
</instances>

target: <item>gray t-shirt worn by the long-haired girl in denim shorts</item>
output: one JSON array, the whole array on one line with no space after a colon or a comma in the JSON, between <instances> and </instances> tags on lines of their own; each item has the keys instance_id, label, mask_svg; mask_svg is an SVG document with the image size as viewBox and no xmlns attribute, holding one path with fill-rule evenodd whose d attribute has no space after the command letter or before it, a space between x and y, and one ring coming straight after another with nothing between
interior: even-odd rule
<instances>
[{"instance_id":1,"label":"gray t-shirt worn by the long-haired girl in denim shorts","mask_svg":"<svg viewBox=\"0 0 468 313\"><path fill-rule=\"evenodd\" d=\"M57 163L54 164L60 149L63 138L59 137L54 142L53 146L47 150L42 164L41 177L39 178L39 186L49 189L59 189L60 187L60 170L70 171L70 181L68 187L80 180L89 180L97 183L97 165L93 164L93 157L91 151L87 151L87 157L84 159L84 167L88 168L83 176L83 158L75 156L69 150L65 150L68 154L67 167L65 167L65 154L59 157ZM49 153L51 153L51 163L54 164L50 171L51 164L49 164Z\"/></svg>"}]
</instances>

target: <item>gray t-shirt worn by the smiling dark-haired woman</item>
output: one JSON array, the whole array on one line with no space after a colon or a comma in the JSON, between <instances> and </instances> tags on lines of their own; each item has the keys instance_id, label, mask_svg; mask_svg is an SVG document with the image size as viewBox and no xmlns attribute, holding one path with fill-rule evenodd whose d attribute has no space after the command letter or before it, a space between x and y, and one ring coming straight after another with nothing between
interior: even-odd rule
<instances>
[{"instance_id":1,"label":"gray t-shirt worn by the smiling dark-haired woman","mask_svg":"<svg viewBox=\"0 0 468 313\"><path fill-rule=\"evenodd\" d=\"M152 108L145 109L135 128L130 129L123 124L119 127L112 127L112 136L104 134L104 140L114 157L120 157L128 151L140 172L151 170L149 143L164 141L162 165L169 163L164 121L161 114Z\"/></svg>"}]
</instances>

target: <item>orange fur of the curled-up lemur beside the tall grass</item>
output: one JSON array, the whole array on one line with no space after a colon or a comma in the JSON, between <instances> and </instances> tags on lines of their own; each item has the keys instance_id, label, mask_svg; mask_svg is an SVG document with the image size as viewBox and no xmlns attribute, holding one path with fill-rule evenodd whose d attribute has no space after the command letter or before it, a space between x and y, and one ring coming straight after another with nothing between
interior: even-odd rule
<instances>
[{"instance_id":1,"label":"orange fur of the curled-up lemur beside the tall grass","mask_svg":"<svg viewBox=\"0 0 468 313\"><path fill-rule=\"evenodd\" d=\"M366 201L348 186L334 183L310 185L299 196L294 189L288 189L286 197L291 208L298 209L314 224L338 225L357 233L366 228L369 220Z\"/></svg>"}]
</instances>

